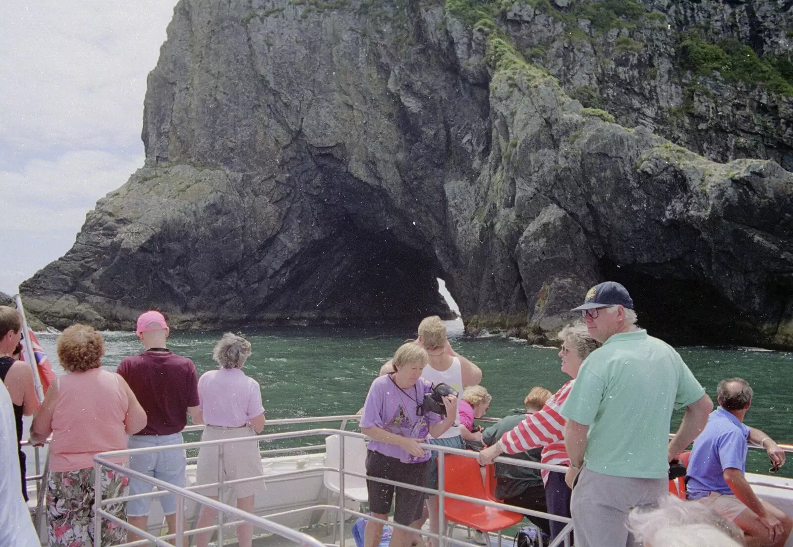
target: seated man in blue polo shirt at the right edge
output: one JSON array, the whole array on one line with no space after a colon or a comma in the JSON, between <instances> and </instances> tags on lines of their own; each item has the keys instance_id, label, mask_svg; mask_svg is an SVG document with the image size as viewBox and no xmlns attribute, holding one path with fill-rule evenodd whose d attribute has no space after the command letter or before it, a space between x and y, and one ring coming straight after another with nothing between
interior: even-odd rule
<instances>
[{"instance_id":1,"label":"seated man in blue polo shirt at the right edge","mask_svg":"<svg viewBox=\"0 0 793 547\"><path fill-rule=\"evenodd\" d=\"M781 547L793 520L770 503L760 501L746 482L746 441L762 446L778 469L785 453L759 429L743 423L752 405L752 387L742 378L728 378L716 388L718 408L694 442L688 461L688 499L699 499L744 531L746 544Z\"/></svg>"}]
</instances>

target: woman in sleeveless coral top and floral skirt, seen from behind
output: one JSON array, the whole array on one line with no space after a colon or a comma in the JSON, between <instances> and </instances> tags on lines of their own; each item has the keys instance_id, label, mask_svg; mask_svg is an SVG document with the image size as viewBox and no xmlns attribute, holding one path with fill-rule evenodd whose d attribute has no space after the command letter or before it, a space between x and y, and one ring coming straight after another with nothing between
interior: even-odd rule
<instances>
[{"instance_id":1,"label":"woman in sleeveless coral top and floral skirt, seen from behind","mask_svg":"<svg viewBox=\"0 0 793 547\"><path fill-rule=\"evenodd\" d=\"M47 390L30 426L30 442L50 442L47 484L49 545L94 545L94 456L125 450L127 435L146 426L146 411L118 374L102 369L105 342L94 327L72 325L58 339L58 358L67 374ZM126 464L127 457L110 458ZM126 495L128 476L102 469L102 499ZM105 511L127 518L126 503ZM102 545L125 541L126 531L102 522Z\"/></svg>"}]
</instances>

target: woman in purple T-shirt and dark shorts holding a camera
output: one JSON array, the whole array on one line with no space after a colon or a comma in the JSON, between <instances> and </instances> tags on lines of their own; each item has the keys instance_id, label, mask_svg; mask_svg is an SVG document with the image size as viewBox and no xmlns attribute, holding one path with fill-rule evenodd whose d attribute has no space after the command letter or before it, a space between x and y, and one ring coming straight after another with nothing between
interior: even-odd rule
<instances>
[{"instance_id":1,"label":"woman in purple T-shirt and dark shorts holding a camera","mask_svg":"<svg viewBox=\"0 0 793 547\"><path fill-rule=\"evenodd\" d=\"M395 372L372 382L361 415L361 431L372 439L366 453L367 475L416 486L427 484L430 453L419 443L427 442L427 435L438 438L457 418L455 396L443 398L446 417L423 411L424 394L431 392L431 384L421 377L427 360L427 351L422 346L408 342L394 354ZM374 480L366 480L366 487L372 516L388 519L394 487ZM399 486L396 491L394 522L417 528L422 522L424 493ZM378 545L382 531L382 524L369 522L364 547ZM411 535L395 527L390 545L406 547Z\"/></svg>"}]
</instances>

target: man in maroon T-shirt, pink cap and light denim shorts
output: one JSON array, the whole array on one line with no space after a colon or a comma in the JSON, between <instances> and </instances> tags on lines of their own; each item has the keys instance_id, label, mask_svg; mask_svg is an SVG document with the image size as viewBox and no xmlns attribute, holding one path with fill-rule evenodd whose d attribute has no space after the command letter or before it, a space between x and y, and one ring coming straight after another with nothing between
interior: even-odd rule
<instances>
[{"instance_id":1,"label":"man in maroon T-shirt, pink cap and light denim shorts","mask_svg":"<svg viewBox=\"0 0 793 547\"><path fill-rule=\"evenodd\" d=\"M129 384L132 392L144 407L148 422L136 435L129 436L129 448L178 445L187 415L193 423L203 423L198 400L198 377L193 361L166 349L169 329L160 312L146 312L138 318L136 334L144 343L140 355L125 358L117 373ZM163 480L175 486L185 486L186 461L184 449L135 454L129 457L129 469ZM129 494L151 492L151 484L130 477ZM176 531L176 498L159 496L168 523L168 533ZM132 499L127 502L128 522L146 530L151 498ZM138 534L128 534L127 541L143 539Z\"/></svg>"}]
</instances>

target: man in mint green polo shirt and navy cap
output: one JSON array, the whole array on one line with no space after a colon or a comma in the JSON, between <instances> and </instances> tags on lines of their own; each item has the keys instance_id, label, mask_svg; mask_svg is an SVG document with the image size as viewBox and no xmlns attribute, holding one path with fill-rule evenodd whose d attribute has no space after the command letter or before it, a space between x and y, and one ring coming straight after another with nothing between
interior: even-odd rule
<instances>
[{"instance_id":1,"label":"man in mint green polo shirt and navy cap","mask_svg":"<svg viewBox=\"0 0 793 547\"><path fill-rule=\"evenodd\" d=\"M573 487L577 547L629 545L626 517L668 488L668 462L707 424L711 398L680 355L636 325L634 302L614 281L589 289L580 311L603 346L581 365L561 415ZM672 409L686 407L668 442Z\"/></svg>"}]
</instances>

